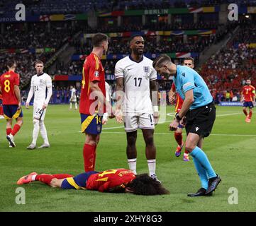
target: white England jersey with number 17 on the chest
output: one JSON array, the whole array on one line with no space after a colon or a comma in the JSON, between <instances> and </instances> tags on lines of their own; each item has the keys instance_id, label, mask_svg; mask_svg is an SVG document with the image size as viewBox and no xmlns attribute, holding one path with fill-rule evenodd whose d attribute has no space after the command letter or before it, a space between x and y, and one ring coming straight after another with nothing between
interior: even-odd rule
<instances>
[{"instance_id":1,"label":"white England jersey with number 17 on the chest","mask_svg":"<svg viewBox=\"0 0 256 226\"><path fill-rule=\"evenodd\" d=\"M123 112L150 113L150 81L157 79L157 71L152 66L152 60L143 57L140 62L133 61L130 56L116 63L115 78L124 79L125 97Z\"/></svg>"}]
</instances>

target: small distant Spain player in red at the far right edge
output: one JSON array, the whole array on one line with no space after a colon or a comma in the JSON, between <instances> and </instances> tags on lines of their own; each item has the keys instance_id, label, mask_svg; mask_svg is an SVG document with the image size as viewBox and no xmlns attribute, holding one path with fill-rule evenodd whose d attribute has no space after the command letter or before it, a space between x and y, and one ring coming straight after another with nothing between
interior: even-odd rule
<instances>
[{"instance_id":1,"label":"small distant Spain player in red at the far right edge","mask_svg":"<svg viewBox=\"0 0 256 226\"><path fill-rule=\"evenodd\" d=\"M243 87L241 93L241 102L243 102L243 113L245 113L245 121L250 122L252 118L252 108L255 105L255 88L251 85L250 79L246 80L246 85ZM249 107L249 114L247 114L247 107Z\"/></svg>"}]
</instances>

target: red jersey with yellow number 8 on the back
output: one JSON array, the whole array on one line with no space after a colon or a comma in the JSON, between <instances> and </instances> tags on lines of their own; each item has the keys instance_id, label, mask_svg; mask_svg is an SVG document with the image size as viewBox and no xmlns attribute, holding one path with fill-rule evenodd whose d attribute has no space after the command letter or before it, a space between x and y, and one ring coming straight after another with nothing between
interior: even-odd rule
<instances>
[{"instance_id":1,"label":"red jersey with yellow number 8 on the back","mask_svg":"<svg viewBox=\"0 0 256 226\"><path fill-rule=\"evenodd\" d=\"M14 93L14 85L20 85L20 76L13 71L7 71L0 77L3 105L18 105L18 99Z\"/></svg>"}]
</instances>

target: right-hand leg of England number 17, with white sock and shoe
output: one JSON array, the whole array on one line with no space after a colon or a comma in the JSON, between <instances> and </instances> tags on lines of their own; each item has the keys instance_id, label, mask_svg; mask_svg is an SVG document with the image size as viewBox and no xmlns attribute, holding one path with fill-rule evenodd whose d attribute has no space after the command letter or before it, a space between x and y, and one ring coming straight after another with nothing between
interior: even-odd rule
<instances>
[{"instance_id":1,"label":"right-hand leg of England number 17, with white sock and shoe","mask_svg":"<svg viewBox=\"0 0 256 226\"><path fill-rule=\"evenodd\" d=\"M154 143L154 129L141 129L143 131L143 138L146 144L146 157L148 160L148 171L150 172L150 177L157 179L155 174L156 167L156 148ZM160 182L160 181L159 181Z\"/></svg>"}]
</instances>

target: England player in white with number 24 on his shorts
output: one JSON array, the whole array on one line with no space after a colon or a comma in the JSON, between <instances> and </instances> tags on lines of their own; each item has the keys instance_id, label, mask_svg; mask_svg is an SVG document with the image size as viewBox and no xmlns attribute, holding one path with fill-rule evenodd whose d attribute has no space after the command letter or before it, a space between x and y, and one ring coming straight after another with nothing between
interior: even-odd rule
<instances>
[{"instance_id":1,"label":"England player in white with number 24 on his shorts","mask_svg":"<svg viewBox=\"0 0 256 226\"><path fill-rule=\"evenodd\" d=\"M30 91L28 93L28 99L26 101L26 108L29 107L29 102L34 95L33 103L33 141L28 145L28 149L32 150L36 147L36 141L38 139L38 133L40 131L43 137L43 145L38 148L50 147L47 131L44 124L45 112L52 96L52 78L47 73L43 72L43 61L35 62L36 75L31 78ZM47 90L47 96L46 96Z\"/></svg>"}]
</instances>

